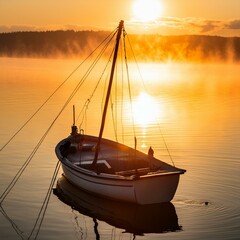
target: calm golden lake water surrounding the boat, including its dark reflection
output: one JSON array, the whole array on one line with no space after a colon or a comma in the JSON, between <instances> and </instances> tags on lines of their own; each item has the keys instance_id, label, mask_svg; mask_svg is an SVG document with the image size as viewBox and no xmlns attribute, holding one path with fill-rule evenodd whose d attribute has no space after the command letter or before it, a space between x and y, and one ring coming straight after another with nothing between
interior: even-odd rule
<instances>
[{"instance_id":1,"label":"calm golden lake water surrounding the boat, including its dark reflection","mask_svg":"<svg viewBox=\"0 0 240 240\"><path fill-rule=\"evenodd\" d=\"M74 60L0 59L0 147L77 64ZM51 194L38 239L133 239L134 233L135 239L239 239L239 65L166 63L140 64L140 68L147 93L134 88L138 148L147 151L151 145L157 157L170 162L161 135L156 136L160 124L175 165L187 169L175 198L171 204L148 208L118 205L76 193L62 180L60 187L67 188L69 196L60 200ZM1 195L60 111L76 79L78 75L0 152ZM81 97L88 94L80 92ZM57 163L55 145L69 134L71 105L80 104L81 97L69 104L2 202L0 239L30 236ZM83 127L97 134L90 116ZM94 120L97 117L95 111ZM107 128L106 137L114 138L111 130ZM131 145L129 135L126 127L122 138Z\"/></svg>"}]
</instances>

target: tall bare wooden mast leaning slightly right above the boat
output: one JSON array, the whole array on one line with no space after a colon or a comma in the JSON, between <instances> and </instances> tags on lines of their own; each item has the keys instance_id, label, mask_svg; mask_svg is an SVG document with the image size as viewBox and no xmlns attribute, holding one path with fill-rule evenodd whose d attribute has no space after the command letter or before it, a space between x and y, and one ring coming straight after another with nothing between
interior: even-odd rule
<instances>
[{"instance_id":1,"label":"tall bare wooden mast leaning slightly right above the boat","mask_svg":"<svg viewBox=\"0 0 240 240\"><path fill-rule=\"evenodd\" d=\"M119 23L119 27L118 27L118 34L117 34L117 37L116 37L116 45L115 45L115 51L114 51L114 56L113 56L111 75L110 75L108 90L107 90L107 94L106 94L106 98L105 98L105 104L104 104L103 115L102 115L102 122L101 122L100 131L99 131L98 142L97 142L96 150L95 150L95 157L94 157L94 160L93 160L93 163L92 163L92 168L93 169L95 168L96 163L97 163L99 148L100 148L100 144L101 144L101 140L102 140L102 134L103 134L103 130L104 130L104 125L105 125L105 120L106 120L106 115L107 115L107 109L108 109L108 102L109 102L111 89L112 89L114 70L115 70L115 65L116 65L116 61L117 61L118 47L119 47L119 42L120 42L120 38L121 38L121 34L122 34L123 24L124 24L124 21L121 21Z\"/></svg>"}]
</instances>

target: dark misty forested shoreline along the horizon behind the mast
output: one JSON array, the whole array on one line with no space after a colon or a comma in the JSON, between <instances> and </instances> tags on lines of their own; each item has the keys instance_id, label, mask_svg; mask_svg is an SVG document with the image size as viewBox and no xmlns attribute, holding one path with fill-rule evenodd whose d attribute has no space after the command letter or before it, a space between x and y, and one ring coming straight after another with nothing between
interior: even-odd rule
<instances>
[{"instance_id":1,"label":"dark misty forested shoreline along the horizon behind the mast","mask_svg":"<svg viewBox=\"0 0 240 240\"><path fill-rule=\"evenodd\" d=\"M105 31L0 33L0 56L79 57L90 53ZM204 35L129 35L134 54L143 61L240 61L240 38Z\"/></svg>"}]
</instances>

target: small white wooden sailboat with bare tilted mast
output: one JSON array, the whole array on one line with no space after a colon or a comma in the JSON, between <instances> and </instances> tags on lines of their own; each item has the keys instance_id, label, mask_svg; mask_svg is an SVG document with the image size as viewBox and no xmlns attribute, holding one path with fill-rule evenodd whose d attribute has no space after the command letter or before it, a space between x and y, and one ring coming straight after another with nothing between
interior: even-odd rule
<instances>
[{"instance_id":1,"label":"small white wooden sailboat with bare tilted mast","mask_svg":"<svg viewBox=\"0 0 240 240\"><path fill-rule=\"evenodd\" d=\"M57 144L56 155L65 177L92 194L137 204L169 202L185 170L102 137L123 24L118 27L99 136L78 133L74 123L71 135Z\"/></svg>"}]
</instances>

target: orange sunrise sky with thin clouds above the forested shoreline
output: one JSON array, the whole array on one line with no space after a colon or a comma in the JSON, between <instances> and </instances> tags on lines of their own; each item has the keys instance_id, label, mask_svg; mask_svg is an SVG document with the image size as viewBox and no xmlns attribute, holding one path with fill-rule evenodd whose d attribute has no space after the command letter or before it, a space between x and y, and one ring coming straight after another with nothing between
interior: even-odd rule
<instances>
[{"instance_id":1,"label":"orange sunrise sky with thin clouds above the forested shoreline","mask_svg":"<svg viewBox=\"0 0 240 240\"><path fill-rule=\"evenodd\" d=\"M113 30L240 36L240 0L0 0L0 32Z\"/></svg>"}]
</instances>

